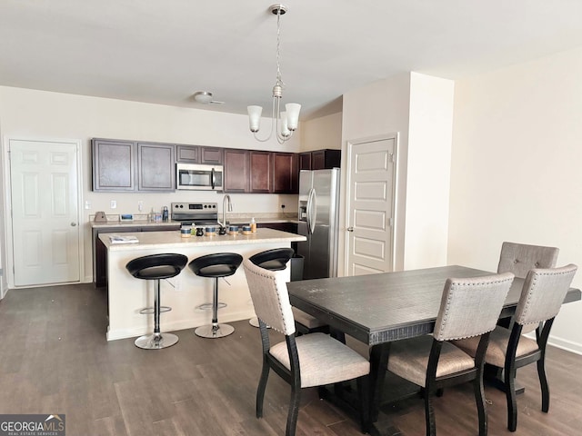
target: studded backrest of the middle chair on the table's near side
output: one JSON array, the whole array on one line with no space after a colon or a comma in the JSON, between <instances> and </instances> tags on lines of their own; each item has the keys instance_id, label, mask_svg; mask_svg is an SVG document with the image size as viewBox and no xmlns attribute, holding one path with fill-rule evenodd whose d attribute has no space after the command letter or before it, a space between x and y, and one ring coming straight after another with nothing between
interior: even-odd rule
<instances>
[{"instance_id":1,"label":"studded backrest of the middle chair on the table's near side","mask_svg":"<svg viewBox=\"0 0 582 436\"><path fill-rule=\"evenodd\" d=\"M470 338L495 329L514 274L449 278L433 336L437 341Z\"/></svg>"}]
</instances>

